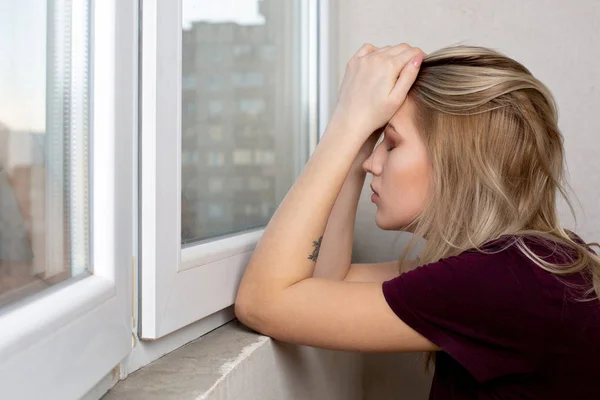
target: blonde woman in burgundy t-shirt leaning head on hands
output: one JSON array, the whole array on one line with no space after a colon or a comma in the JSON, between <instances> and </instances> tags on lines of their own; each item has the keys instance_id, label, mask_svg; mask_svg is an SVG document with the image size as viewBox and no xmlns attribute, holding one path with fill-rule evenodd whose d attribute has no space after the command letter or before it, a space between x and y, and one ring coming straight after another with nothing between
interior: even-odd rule
<instances>
[{"instance_id":1,"label":"blonde woman in burgundy t-shirt leaning head on hands","mask_svg":"<svg viewBox=\"0 0 600 400\"><path fill-rule=\"evenodd\" d=\"M238 318L291 343L431 352L433 399L600 398L600 257L559 226L562 142L550 92L510 58L362 46ZM406 252L350 265L361 166L377 225L426 239L418 268Z\"/></svg>"}]
</instances>

